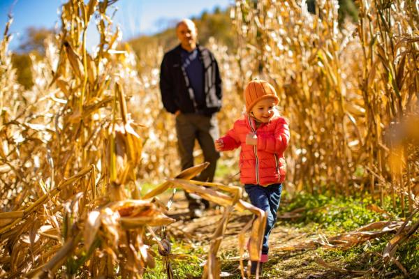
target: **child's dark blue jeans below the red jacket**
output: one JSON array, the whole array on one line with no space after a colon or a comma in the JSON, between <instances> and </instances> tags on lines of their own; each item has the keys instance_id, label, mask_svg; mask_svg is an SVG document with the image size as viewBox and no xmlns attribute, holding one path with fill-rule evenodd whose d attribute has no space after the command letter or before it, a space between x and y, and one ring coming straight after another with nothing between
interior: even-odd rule
<instances>
[{"instance_id":1,"label":"child's dark blue jeans below the red jacket","mask_svg":"<svg viewBox=\"0 0 419 279\"><path fill-rule=\"evenodd\" d=\"M246 184L244 185L244 190L246 190L247 195L249 195L251 204L267 213L262 246L262 254L267 255L267 252L269 252L267 240L272 228L277 222L277 211L279 202L281 201L282 184L276 183L267 187L256 184Z\"/></svg>"}]
</instances>

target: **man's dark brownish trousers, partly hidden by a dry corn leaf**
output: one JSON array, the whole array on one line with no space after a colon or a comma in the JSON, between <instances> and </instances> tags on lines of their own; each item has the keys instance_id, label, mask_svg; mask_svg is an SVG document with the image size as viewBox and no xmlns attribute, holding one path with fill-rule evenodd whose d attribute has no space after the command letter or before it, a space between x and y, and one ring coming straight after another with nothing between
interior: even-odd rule
<instances>
[{"instance_id":1,"label":"man's dark brownish trousers, partly hidden by a dry corn leaf","mask_svg":"<svg viewBox=\"0 0 419 279\"><path fill-rule=\"evenodd\" d=\"M205 162L210 165L195 179L212 182L214 179L216 160L220 158L215 150L214 140L219 138L219 127L216 114L205 116L201 114L179 114L176 116L177 146L179 150L182 170L193 166L193 147L195 140L203 150ZM200 200L196 195L186 193L189 209L202 208L206 201Z\"/></svg>"}]
</instances>

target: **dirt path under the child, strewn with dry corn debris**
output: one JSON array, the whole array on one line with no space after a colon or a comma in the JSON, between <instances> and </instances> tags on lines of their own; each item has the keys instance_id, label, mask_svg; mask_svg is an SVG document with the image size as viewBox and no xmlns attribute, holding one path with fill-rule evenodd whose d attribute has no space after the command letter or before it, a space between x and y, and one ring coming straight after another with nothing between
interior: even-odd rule
<instances>
[{"instance_id":1,"label":"dirt path under the child, strewn with dry corn debris","mask_svg":"<svg viewBox=\"0 0 419 279\"><path fill-rule=\"evenodd\" d=\"M208 243L221 218L219 209L210 209L205 216L190 220L186 200L182 193L175 195L175 203L170 210L170 216L177 219L168 228L176 238L184 238L196 245L200 245L206 252ZM244 225L251 219L250 213L235 211L228 223L227 232L221 243L219 257L222 259L223 278L240 278L239 252L237 235ZM264 266L261 278L357 278L348 273L330 271L318 264L316 251L295 250L294 246L306 241L318 239L318 232L304 232L304 229L293 227L284 222L277 223L270 236L270 260ZM246 263L247 261L245 261ZM334 263L339 266L339 262Z\"/></svg>"}]
</instances>

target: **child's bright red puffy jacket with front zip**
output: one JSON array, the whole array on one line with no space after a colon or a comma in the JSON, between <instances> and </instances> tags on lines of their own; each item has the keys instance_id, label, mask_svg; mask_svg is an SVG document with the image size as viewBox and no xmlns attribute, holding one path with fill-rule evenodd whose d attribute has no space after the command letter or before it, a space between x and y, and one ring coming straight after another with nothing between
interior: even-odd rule
<instances>
[{"instance_id":1,"label":"child's bright red puffy jacket with front zip","mask_svg":"<svg viewBox=\"0 0 419 279\"><path fill-rule=\"evenodd\" d=\"M257 145L246 144L249 133L258 136ZM268 186L282 183L286 174L284 151L290 140L288 122L284 117L274 116L269 123L261 123L256 129L253 118L248 115L235 121L233 129L221 137L223 151L241 146L240 182Z\"/></svg>"}]
</instances>

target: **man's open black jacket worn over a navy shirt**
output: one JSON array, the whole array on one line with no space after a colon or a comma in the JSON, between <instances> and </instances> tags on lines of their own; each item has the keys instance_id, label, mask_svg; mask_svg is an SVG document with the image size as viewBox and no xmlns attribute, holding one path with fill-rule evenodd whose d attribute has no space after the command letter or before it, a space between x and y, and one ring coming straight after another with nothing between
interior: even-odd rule
<instances>
[{"instance_id":1,"label":"man's open black jacket worn over a navy shirt","mask_svg":"<svg viewBox=\"0 0 419 279\"><path fill-rule=\"evenodd\" d=\"M214 54L205 47L198 47L198 56L203 63L203 86L205 104L194 105L193 94L189 93L191 86L186 85L188 77L182 70L180 45L167 52L161 62L160 90L163 106L174 114L177 110L183 113L199 113L210 116L221 108L221 77Z\"/></svg>"}]
</instances>

